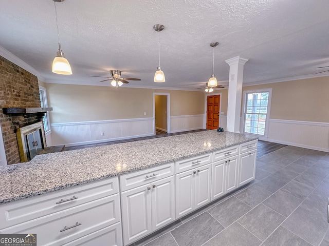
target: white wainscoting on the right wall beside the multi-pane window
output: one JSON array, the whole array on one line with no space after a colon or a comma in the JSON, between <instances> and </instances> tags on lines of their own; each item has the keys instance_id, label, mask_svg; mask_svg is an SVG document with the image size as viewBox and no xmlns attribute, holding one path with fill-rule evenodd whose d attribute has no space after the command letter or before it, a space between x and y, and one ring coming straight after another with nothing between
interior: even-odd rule
<instances>
[{"instance_id":1,"label":"white wainscoting on the right wall beside the multi-pane window","mask_svg":"<svg viewBox=\"0 0 329 246\"><path fill-rule=\"evenodd\" d=\"M329 152L329 123L270 119L267 141Z\"/></svg>"}]
</instances>

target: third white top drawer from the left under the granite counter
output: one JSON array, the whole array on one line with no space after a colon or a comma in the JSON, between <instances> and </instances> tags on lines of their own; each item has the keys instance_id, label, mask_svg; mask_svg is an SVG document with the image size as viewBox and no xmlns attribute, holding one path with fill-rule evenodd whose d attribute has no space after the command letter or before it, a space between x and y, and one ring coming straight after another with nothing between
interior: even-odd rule
<instances>
[{"instance_id":1,"label":"third white top drawer from the left under the granite counter","mask_svg":"<svg viewBox=\"0 0 329 246\"><path fill-rule=\"evenodd\" d=\"M200 167L211 163L211 153L204 155L196 155L193 157L177 160L175 164L176 174L191 170L196 167Z\"/></svg>"}]
</instances>

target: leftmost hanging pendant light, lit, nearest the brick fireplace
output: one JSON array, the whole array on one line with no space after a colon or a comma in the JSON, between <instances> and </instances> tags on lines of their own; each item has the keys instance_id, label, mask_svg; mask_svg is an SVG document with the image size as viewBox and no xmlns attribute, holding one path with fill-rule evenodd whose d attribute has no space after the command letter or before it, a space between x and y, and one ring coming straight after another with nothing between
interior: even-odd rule
<instances>
[{"instance_id":1,"label":"leftmost hanging pendant light, lit, nearest the brick fireplace","mask_svg":"<svg viewBox=\"0 0 329 246\"><path fill-rule=\"evenodd\" d=\"M57 9L56 9L56 2L60 3L64 0L53 0L55 5L55 14L56 14L56 26L57 26L57 35L58 35L58 47L59 50L57 51L56 57L53 59L52 62L52 72L64 75L72 74L71 66L68 63L68 60L64 57L64 53L61 49L61 42L60 42L60 33L58 31L58 20L57 20Z\"/></svg>"}]
</instances>

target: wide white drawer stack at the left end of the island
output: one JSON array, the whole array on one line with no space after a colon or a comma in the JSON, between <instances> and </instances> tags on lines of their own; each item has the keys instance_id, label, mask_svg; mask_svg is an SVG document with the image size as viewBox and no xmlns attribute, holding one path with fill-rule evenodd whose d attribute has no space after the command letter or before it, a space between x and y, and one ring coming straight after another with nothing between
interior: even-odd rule
<instances>
[{"instance_id":1,"label":"wide white drawer stack at the left end of the island","mask_svg":"<svg viewBox=\"0 0 329 246\"><path fill-rule=\"evenodd\" d=\"M0 206L0 233L37 234L38 245L121 245L118 177Z\"/></svg>"}]
</instances>

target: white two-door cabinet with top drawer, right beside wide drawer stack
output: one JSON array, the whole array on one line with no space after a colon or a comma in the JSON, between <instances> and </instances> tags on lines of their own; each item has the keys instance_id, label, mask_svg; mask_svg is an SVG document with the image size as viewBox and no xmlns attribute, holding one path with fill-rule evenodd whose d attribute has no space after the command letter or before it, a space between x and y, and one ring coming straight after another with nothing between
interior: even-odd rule
<instances>
[{"instance_id":1,"label":"white two-door cabinet with top drawer, right beside wide drawer stack","mask_svg":"<svg viewBox=\"0 0 329 246\"><path fill-rule=\"evenodd\" d=\"M120 176L124 245L175 220L174 162Z\"/></svg>"}]
</instances>

